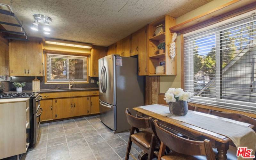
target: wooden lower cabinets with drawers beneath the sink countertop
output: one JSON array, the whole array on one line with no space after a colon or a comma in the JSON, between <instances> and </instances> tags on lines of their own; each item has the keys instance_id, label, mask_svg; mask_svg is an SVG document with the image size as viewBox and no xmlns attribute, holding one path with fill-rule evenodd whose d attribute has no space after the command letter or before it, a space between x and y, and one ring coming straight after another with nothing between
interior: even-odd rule
<instances>
[{"instance_id":1,"label":"wooden lower cabinets with drawers beneath the sink countertop","mask_svg":"<svg viewBox=\"0 0 256 160\"><path fill-rule=\"evenodd\" d=\"M100 113L99 96L67 97L41 100L41 121Z\"/></svg>"}]
</instances>

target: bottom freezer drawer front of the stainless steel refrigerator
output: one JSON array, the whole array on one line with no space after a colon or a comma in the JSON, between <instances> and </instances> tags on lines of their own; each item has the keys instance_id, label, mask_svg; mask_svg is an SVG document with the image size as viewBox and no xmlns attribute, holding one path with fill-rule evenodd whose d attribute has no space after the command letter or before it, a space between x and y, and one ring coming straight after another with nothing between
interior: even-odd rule
<instances>
[{"instance_id":1,"label":"bottom freezer drawer front of the stainless steel refrigerator","mask_svg":"<svg viewBox=\"0 0 256 160\"><path fill-rule=\"evenodd\" d=\"M113 131L116 130L116 106L100 101L100 120Z\"/></svg>"}]
</instances>

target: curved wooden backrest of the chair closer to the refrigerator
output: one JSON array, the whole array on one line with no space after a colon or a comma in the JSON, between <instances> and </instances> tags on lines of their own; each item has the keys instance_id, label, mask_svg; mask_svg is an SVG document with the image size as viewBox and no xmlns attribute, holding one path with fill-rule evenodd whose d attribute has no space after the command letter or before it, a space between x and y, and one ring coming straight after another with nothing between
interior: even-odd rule
<instances>
[{"instance_id":1,"label":"curved wooden backrest of the chair closer to the refrigerator","mask_svg":"<svg viewBox=\"0 0 256 160\"><path fill-rule=\"evenodd\" d=\"M125 109L125 115L127 118L128 123L135 128L150 128L150 125L148 123L147 118L138 118L135 116L132 116L129 108Z\"/></svg>"}]
</instances>

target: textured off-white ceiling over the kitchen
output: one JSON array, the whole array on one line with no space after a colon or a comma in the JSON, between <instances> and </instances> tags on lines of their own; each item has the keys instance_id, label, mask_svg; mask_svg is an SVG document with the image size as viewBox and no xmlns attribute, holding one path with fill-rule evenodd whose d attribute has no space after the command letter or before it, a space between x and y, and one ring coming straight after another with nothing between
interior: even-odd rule
<instances>
[{"instance_id":1,"label":"textured off-white ceiling over the kitchen","mask_svg":"<svg viewBox=\"0 0 256 160\"><path fill-rule=\"evenodd\" d=\"M13 12L29 36L43 37L30 29L33 14L52 18L50 38L108 46L164 14L179 17L211 0L12 0ZM10 0L0 0L9 4ZM0 20L7 17L0 14ZM12 22L12 19L8 19ZM7 29L7 26L4 26ZM8 28L9 29L9 28ZM20 31L20 28L12 27Z\"/></svg>"}]
</instances>

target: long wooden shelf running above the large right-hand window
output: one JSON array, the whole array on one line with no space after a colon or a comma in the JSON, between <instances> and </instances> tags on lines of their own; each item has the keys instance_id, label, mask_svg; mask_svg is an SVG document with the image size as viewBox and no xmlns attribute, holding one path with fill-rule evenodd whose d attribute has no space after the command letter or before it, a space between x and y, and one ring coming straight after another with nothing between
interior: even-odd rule
<instances>
[{"instance_id":1,"label":"long wooden shelf running above the large right-hand window","mask_svg":"<svg viewBox=\"0 0 256 160\"><path fill-rule=\"evenodd\" d=\"M187 20L185 22L182 22L180 24L177 24L173 27L170 27L171 32L181 32L183 33L183 30L189 28L193 28L194 25L197 25L199 23L203 23L206 21L213 21L213 19L217 19L218 16L227 14L228 12L234 11L236 9L239 9L245 5L251 4L252 1L250 0L233 0L226 4L223 4L211 11L205 12L199 16L196 16L190 20Z\"/></svg>"}]
</instances>

